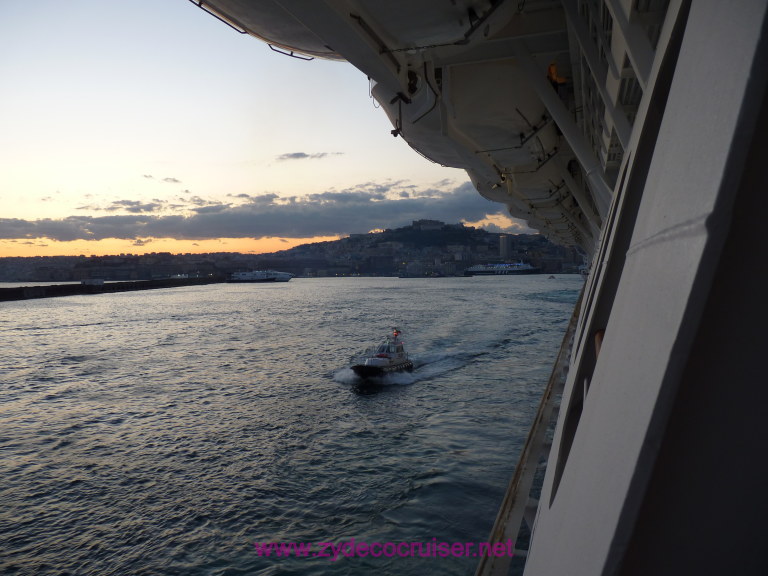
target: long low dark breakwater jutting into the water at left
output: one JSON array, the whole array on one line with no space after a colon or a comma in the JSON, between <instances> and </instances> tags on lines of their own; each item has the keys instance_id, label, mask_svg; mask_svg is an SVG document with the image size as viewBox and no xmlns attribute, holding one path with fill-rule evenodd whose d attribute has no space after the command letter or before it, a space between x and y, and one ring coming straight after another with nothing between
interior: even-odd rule
<instances>
[{"instance_id":1,"label":"long low dark breakwater jutting into the water at left","mask_svg":"<svg viewBox=\"0 0 768 576\"><path fill-rule=\"evenodd\" d=\"M56 298L80 294L110 294L113 292L133 292L135 290L157 290L179 286L197 286L224 282L224 277L205 278L163 278L157 280L130 280L125 282L104 282L103 284L51 284L46 286L18 286L0 288L0 302L9 300L29 300L32 298Z\"/></svg>"}]
</instances>

